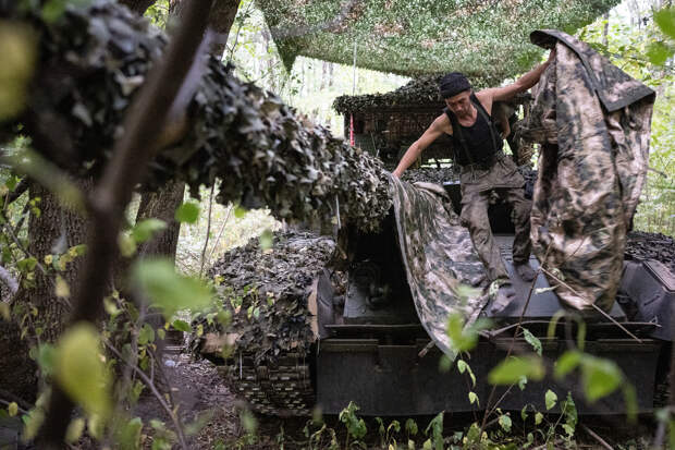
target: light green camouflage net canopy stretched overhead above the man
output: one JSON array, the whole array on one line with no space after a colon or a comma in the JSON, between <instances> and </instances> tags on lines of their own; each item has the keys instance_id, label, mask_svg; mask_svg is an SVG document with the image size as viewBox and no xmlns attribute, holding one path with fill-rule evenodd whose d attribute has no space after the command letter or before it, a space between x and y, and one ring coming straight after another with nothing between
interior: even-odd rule
<instances>
[{"instance_id":1,"label":"light green camouflage net canopy stretched overhead above the man","mask_svg":"<svg viewBox=\"0 0 675 450\"><path fill-rule=\"evenodd\" d=\"M459 71L499 84L541 51L536 28L574 32L618 0L257 0L286 68L297 56L407 76Z\"/></svg>"}]
</instances>

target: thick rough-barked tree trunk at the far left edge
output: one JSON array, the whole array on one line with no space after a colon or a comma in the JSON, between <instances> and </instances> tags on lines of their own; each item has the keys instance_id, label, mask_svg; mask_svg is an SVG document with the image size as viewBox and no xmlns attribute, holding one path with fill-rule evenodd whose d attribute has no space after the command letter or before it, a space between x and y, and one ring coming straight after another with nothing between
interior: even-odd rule
<instances>
[{"instance_id":1,"label":"thick rough-barked tree trunk at the far left edge","mask_svg":"<svg viewBox=\"0 0 675 450\"><path fill-rule=\"evenodd\" d=\"M78 184L87 192L91 181ZM45 256L68 254L70 247L84 243L86 219L61 207L57 197L38 183L30 183L29 196L36 200L39 214L30 212L26 250L48 273L44 273L39 267L35 268L33 285L26 287L24 282L16 293L13 303L16 314L12 317L13 321L0 325L0 387L30 401L37 391L37 377L35 362L28 357L29 346L39 342L54 342L61 333L70 307L65 299L56 295L56 276L62 277L72 289L76 285L83 259L75 257L64 270L54 272L53 268L45 264ZM21 339L22 330L17 324L33 308L37 311L37 315L29 314L29 319L23 325L27 327L27 332L24 339Z\"/></svg>"}]
</instances>

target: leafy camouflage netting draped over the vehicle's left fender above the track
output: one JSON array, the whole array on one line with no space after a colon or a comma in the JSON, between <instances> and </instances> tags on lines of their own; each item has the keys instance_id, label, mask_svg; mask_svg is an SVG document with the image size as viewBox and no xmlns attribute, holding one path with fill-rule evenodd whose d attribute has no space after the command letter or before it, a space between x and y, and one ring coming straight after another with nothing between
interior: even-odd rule
<instances>
[{"instance_id":1,"label":"leafy camouflage netting draped over the vehicle's left fender above the track","mask_svg":"<svg viewBox=\"0 0 675 450\"><path fill-rule=\"evenodd\" d=\"M280 231L269 250L253 239L213 264L208 277L220 282L219 299L233 313L228 332L237 337L234 352L253 353L260 362L273 361L282 351L309 350L315 336L307 297L334 247L331 238ZM222 331L206 323L205 328Z\"/></svg>"}]
</instances>

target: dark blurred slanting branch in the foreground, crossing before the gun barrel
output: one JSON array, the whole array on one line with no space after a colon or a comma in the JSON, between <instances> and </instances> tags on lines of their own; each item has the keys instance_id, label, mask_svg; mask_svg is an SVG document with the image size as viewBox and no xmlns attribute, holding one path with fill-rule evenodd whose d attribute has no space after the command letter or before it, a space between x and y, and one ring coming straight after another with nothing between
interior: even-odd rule
<instances>
[{"instance_id":1,"label":"dark blurred slanting branch in the foreground, crossing before the gun barrel","mask_svg":"<svg viewBox=\"0 0 675 450\"><path fill-rule=\"evenodd\" d=\"M112 159L91 195L89 212L93 223L87 245L87 260L76 290L71 325L81 320L96 324L102 312L102 299L116 258L116 238L132 191L158 149L174 98L195 60L208 23L212 0L189 1L183 22L169 44L164 57L148 74L124 120L125 133L115 143ZM45 424L38 436L40 448L62 447L73 402L53 386Z\"/></svg>"}]
</instances>

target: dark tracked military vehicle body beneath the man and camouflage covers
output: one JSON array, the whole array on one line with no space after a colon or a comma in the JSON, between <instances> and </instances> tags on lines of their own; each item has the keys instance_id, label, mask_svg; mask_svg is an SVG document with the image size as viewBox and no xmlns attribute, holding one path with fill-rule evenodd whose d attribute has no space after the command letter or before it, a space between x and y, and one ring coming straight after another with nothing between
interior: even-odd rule
<instances>
[{"instance_id":1,"label":"dark tracked military vehicle body beneath the man and camouflage covers","mask_svg":"<svg viewBox=\"0 0 675 450\"><path fill-rule=\"evenodd\" d=\"M450 181L444 186L455 199L453 204L459 205L458 183ZM490 217L513 275L513 226L507 209L494 205ZM307 289L315 338L308 351L289 350L280 352L274 362L265 362L242 349L224 360L218 345L202 346L202 353L219 366L233 390L255 411L304 415L318 406L326 414L336 414L351 400L357 401L364 415L477 411L484 408L491 390L488 373L506 355L520 316L523 327L541 340L543 356L550 362L567 349L569 339L576 339L577 324L565 320L557 323L554 336L548 336L551 318L564 307L555 291L548 289L543 276L536 280L529 302L531 283L512 276L517 301L499 314L490 314L489 304L483 308L481 316L490 318L493 325L481 332L470 355L464 356L477 385L470 387L469 376L455 367L441 372L443 353L432 345L418 318L394 226L390 215L380 233L351 236L344 292L336 292L330 267ZM585 349L622 368L636 388L639 410L647 412L662 401L667 377L675 329L675 245L665 236L661 242L653 235L638 238L629 241L622 287L610 312L615 321L587 320ZM645 241L647 238L651 241ZM307 241L307 235L302 240ZM289 242L293 245L293 238ZM654 255L648 253L650 248L655 250L654 254L660 250L663 263L651 257ZM533 256L530 264L538 267ZM516 344L528 346L521 336ZM544 393L552 389L561 399L570 391L580 414L624 411L621 393L587 404L579 386L575 378L560 382L547 376L540 382L528 382L524 390L511 389L500 405L503 410L519 411L531 404L545 411ZM469 401L469 390L481 399L480 405ZM499 388L496 398L504 391L505 388Z\"/></svg>"}]
</instances>

